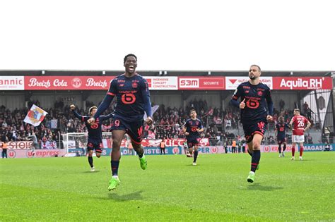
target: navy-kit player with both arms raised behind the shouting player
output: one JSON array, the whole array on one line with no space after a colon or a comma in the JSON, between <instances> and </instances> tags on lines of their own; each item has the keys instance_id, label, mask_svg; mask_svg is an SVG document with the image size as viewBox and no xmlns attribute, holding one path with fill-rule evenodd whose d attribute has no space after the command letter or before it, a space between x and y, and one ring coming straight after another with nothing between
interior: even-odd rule
<instances>
[{"instance_id":1,"label":"navy-kit player with both arms raised behind the shouting player","mask_svg":"<svg viewBox=\"0 0 335 222\"><path fill-rule=\"evenodd\" d=\"M82 122L86 124L86 128L88 130L88 141L87 141L87 151L88 151L88 164L90 164L90 171L94 172L95 168L93 166L93 151L95 150L95 154L98 158L100 158L102 152L102 131L101 125L102 122L112 118L113 114L110 113L108 116L99 116L93 125L88 124L86 121L92 118L94 114L97 112L97 106L92 106L88 110L90 116L81 116L76 112L76 106L71 105L70 109L76 118L79 118Z\"/></svg>"}]
</instances>

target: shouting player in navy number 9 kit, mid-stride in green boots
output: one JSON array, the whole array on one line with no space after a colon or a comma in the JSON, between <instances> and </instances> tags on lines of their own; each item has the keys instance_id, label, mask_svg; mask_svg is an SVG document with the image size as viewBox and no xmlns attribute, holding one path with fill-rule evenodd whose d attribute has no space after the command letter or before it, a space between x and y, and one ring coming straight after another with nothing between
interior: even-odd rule
<instances>
[{"instance_id":1,"label":"shouting player in navy number 9 kit, mid-stride in green boots","mask_svg":"<svg viewBox=\"0 0 335 222\"><path fill-rule=\"evenodd\" d=\"M146 157L141 146L144 112L148 116L146 123L148 125L153 123L148 82L136 73L137 58L134 54L128 54L124 57L124 67L125 73L110 82L110 89L98 107L97 113L95 113L94 118L88 120L88 123L94 123L100 113L110 106L112 99L117 97L117 106L114 110L111 128L113 140L110 161L112 179L108 190L114 190L120 183L118 177L119 160L121 158L120 146L125 133L131 138L131 144L139 155L141 168L143 170L147 168Z\"/></svg>"}]
</instances>

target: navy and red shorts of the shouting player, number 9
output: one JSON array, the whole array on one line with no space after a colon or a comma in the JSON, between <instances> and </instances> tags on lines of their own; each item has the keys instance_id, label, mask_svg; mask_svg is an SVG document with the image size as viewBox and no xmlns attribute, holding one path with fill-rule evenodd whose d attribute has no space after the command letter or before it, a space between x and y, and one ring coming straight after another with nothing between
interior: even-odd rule
<instances>
[{"instance_id":1,"label":"navy and red shorts of the shouting player, number 9","mask_svg":"<svg viewBox=\"0 0 335 222\"><path fill-rule=\"evenodd\" d=\"M128 122L121 118L114 118L111 130L124 130L127 132L132 142L141 144L143 139L144 121Z\"/></svg>"}]
</instances>

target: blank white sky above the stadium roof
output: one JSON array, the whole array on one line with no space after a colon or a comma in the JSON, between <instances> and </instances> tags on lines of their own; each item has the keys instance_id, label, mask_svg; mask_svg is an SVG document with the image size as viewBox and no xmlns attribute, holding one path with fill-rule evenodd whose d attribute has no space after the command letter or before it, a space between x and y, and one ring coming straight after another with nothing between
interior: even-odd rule
<instances>
[{"instance_id":1,"label":"blank white sky above the stadium roof","mask_svg":"<svg viewBox=\"0 0 335 222\"><path fill-rule=\"evenodd\" d=\"M0 1L0 70L335 70L332 1Z\"/></svg>"}]
</instances>

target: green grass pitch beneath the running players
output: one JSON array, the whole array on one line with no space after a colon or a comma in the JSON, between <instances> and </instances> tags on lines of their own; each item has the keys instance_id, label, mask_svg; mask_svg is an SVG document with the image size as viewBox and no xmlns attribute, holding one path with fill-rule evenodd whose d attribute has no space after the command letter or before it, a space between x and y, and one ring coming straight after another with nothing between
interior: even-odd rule
<instances>
[{"instance_id":1,"label":"green grass pitch beneath the running players","mask_svg":"<svg viewBox=\"0 0 335 222\"><path fill-rule=\"evenodd\" d=\"M0 221L334 221L335 152L122 156L121 185L107 190L110 157L0 159ZM296 156L298 156L296 154Z\"/></svg>"}]
</instances>

